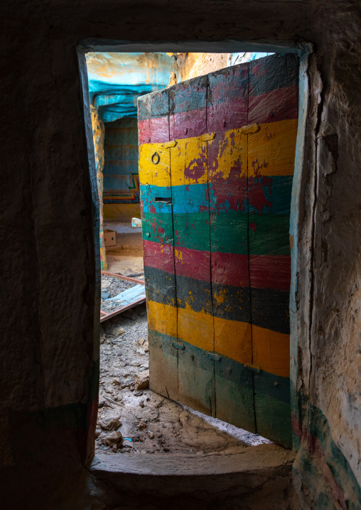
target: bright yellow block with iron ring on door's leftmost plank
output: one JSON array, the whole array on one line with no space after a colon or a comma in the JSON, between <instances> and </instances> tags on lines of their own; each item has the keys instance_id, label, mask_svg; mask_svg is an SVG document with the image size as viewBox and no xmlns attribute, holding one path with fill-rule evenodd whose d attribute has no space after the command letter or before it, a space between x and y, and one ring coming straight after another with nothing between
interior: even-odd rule
<instances>
[{"instance_id":1,"label":"bright yellow block with iron ring on door's leftmost plank","mask_svg":"<svg viewBox=\"0 0 361 510\"><path fill-rule=\"evenodd\" d=\"M144 143L139 146L139 183L141 185L171 186L169 151L169 148L163 147L163 143ZM159 161L155 153L158 154ZM153 155L155 155L153 161L156 164L151 161Z\"/></svg>"}]
</instances>

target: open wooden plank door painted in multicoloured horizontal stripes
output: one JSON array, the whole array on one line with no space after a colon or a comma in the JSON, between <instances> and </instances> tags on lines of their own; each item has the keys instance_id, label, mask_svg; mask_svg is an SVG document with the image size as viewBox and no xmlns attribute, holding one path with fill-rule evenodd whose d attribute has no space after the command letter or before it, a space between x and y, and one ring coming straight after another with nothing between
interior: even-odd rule
<instances>
[{"instance_id":1,"label":"open wooden plank door painted in multicoloured horizontal stripes","mask_svg":"<svg viewBox=\"0 0 361 510\"><path fill-rule=\"evenodd\" d=\"M151 389L287 447L297 85L272 55L138 104Z\"/></svg>"}]
</instances>

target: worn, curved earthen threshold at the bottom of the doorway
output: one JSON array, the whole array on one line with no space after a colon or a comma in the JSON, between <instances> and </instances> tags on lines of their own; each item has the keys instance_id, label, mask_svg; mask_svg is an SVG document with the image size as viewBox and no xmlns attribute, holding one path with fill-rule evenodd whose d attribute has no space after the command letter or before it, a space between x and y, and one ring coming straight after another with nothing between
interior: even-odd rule
<instances>
[{"instance_id":1,"label":"worn, curved earthen threshold at the bottom of the doorway","mask_svg":"<svg viewBox=\"0 0 361 510\"><path fill-rule=\"evenodd\" d=\"M275 444L247 447L243 452L196 454L99 454L90 472L114 488L130 492L242 494L270 479L289 483L295 453ZM282 483L283 484L283 483Z\"/></svg>"}]
</instances>

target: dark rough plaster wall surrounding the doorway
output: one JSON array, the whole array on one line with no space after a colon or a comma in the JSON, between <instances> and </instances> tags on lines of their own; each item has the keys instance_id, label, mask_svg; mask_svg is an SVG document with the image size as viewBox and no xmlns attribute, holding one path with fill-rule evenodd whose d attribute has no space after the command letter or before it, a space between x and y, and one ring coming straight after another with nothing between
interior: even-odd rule
<instances>
[{"instance_id":1,"label":"dark rough plaster wall surrounding the doorway","mask_svg":"<svg viewBox=\"0 0 361 510\"><path fill-rule=\"evenodd\" d=\"M14 0L2 6L0 24L4 508L101 509L109 489L87 471L100 260L89 102L76 52L86 38L102 38L87 48L104 51L119 38L144 41L129 44L132 51L154 51L149 41L157 40L168 41L159 51L174 52L313 44L291 227L293 479L303 508L360 508L360 4Z\"/></svg>"}]
</instances>

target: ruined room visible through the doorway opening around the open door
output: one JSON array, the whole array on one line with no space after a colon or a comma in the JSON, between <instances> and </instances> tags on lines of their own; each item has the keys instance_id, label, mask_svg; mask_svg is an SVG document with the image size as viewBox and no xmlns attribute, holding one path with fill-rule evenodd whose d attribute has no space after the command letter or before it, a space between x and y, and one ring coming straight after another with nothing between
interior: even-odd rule
<instances>
[{"instance_id":1,"label":"ruined room visible through the doorway opening around the open door","mask_svg":"<svg viewBox=\"0 0 361 510\"><path fill-rule=\"evenodd\" d=\"M147 388L149 344L146 305L138 304L104 320L104 313L109 314L114 310L114 301L117 299L113 298L136 286L141 287L141 281L144 281L136 99L153 90L165 89L265 55L87 54L98 189L99 197L102 197L99 204L103 227L100 229L102 268L108 273L128 277L102 275L97 452L111 455L126 451L204 454L238 451L248 445L270 442L257 433L208 418ZM131 58L135 58L136 64L131 63ZM121 67L117 77L110 70L114 59ZM128 67L124 62L128 63ZM144 82L139 80L141 63L146 75ZM137 81L133 76L133 82L128 80L124 83L122 79L126 81L131 75L131 66L138 75ZM124 77L124 74L126 79L119 77ZM163 83L162 79L168 82ZM163 203L171 204L169 197L155 197L154 201L161 202L159 205L162 207ZM106 236L112 237L114 232L115 244L111 239L113 244L105 246ZM249 368L257 370L258 367Z\"/></svg>"}]
</instances>

